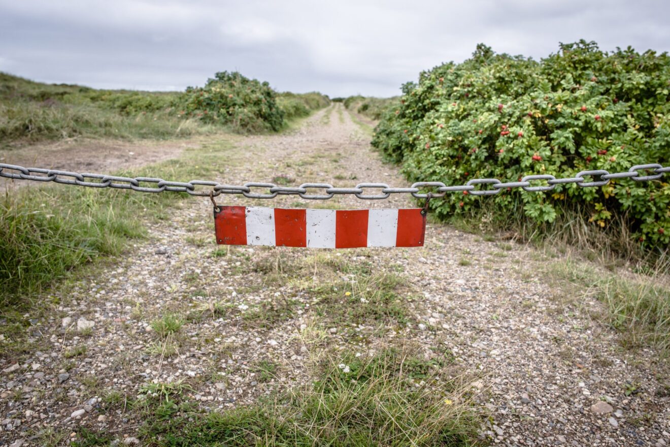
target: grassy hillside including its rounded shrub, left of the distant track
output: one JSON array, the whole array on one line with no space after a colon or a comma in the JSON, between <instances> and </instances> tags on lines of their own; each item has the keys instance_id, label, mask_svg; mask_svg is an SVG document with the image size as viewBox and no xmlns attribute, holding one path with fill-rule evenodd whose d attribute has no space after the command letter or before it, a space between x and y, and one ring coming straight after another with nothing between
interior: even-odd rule
<instances>
[{"instance_id":1,"label":"grassy hillside including its rounded shrub, left of the distant track","mask_svg":"<svg viewBox=\"0 0 670 447\"><path fill-rule=\"evenodd\" d=\"M240 80L247 82L241 85ZM216 93L225 90L225 96L203 102L204 92L215 90L207 86L186 92L98 90L0 72L0 145L75 137L171 139L217 131L279 131L285 121L330 104L328 97L316 92L277 94L267 82L241 74L230 74L222 82L215 78L207 85L211 87L212 81ZM258 86L261 94L249 94L249 86ZM229 103L222 104L222 99ZM271 113L263 113L263 107Z\"/></svg>"}]
</instances>

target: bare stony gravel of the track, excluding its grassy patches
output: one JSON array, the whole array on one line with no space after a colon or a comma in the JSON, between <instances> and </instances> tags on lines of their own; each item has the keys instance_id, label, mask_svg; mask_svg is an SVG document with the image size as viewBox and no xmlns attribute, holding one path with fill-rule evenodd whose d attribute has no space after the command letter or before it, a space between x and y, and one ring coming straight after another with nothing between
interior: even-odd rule
<instances>
[{"instance_id":1,"label":"bare stony gravel of the track, excluding its grassy patches","mask_svg":"<svg viewBox=\"0 0 670 447\"><path fill-rule=\"evenodd\" d=\"M340 104L291 133L236 137L234 144L222 149L218 177L230 184L277 176L289 184L406 184L371 151L369 135ZM258 204L218 198L224 201ZM306 205L293 196L264 203ZM328 205L413 206L404 196L366 202L346 196ZM213 245L211 213L208 200L185 200L151 227L148 242L54 290L62 305L31 327L40 350L21 363L0 363L0 446L38 445L31 436L40 429L69 433L80 424L133 438L139 422L120 409L101 413L101 399L110 390L136 395L152 381L185 379L192 397L211 408L250 403L306 381L309 312L271 326L245 323L245 312L273 300L309 303L295 279L282 281L278 273L301 271L302 281L318 284L325 281L318 261L336 257L402 272L421 300L411 304L415 324L387 336L454 353L492 416L482 437L509 446L670 444L667 363L654 350L622 348L618 334L593 317L600 303L551 288L541 266L560 257L435 224L428 225L423 249L228 251ZM186 323L161 344L150 323L166 312ZM365 351L383 341L352 341L352 331L372 329L346 326L317 329L329 345L354 343ZM166 344L174 344L176 355L161 355ZM280 366L263 381L254 365L268 357Z\"/></svg>"}]
</instances>

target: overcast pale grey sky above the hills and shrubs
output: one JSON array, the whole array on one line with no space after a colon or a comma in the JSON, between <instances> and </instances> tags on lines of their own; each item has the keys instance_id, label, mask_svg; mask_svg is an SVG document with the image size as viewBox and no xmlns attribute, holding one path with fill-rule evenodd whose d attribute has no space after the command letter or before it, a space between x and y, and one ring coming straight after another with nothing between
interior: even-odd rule
<instances>
[{"instance_id":1,"label":"overcast pale grey sky above the hills and shrubs","mask_svg":"<svg viewBox=\"0 0 670 447\"><path fill-rule=\"evenodd\" d=\"M539 59L559 42L670 50L669 1L0 0L0 71L182 90L238 70L278 90L388 97L478 42Z\"/></svg>"}]
</instances>

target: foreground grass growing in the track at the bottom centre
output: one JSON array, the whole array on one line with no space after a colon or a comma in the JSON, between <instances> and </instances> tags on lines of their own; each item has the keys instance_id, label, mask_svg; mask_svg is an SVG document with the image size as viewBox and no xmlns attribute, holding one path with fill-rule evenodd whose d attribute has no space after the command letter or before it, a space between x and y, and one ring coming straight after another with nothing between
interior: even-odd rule
<instances>
[{"instance_id":1,"label":"foreground grass growing in the track at the bottom centre","mask_svg":"<svg viewBox=\"0 0 670 447\"><path fill-rule=\"evenodd\" d=\"M345 352L317 365L308 385L223 411L199 409L182 383L152 383L128 416L140 421L147 446L476 445L482 420L449 378L450 362L409 348L365 358Z\"/></svg>"}]
</instances>

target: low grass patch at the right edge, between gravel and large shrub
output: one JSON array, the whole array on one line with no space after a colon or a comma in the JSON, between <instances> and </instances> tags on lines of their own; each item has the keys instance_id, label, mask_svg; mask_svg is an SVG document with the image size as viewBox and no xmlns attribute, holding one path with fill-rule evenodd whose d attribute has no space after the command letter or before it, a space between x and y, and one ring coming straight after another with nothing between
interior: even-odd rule
<instances>
[{"instance_id":1,"label":"low grass patch at the right edge, between gravel and large shrub","mask_svg":"<svg viewBox=\"0 0 670 447\"><path fill-rule=\"evenodd\" d=\"M606 274L571 259L550 265L550 278L571 296L593 296L606 308L604 322L619 330L624 346L657 346L670 353L668 265L653 275Z\"/></svg>"}]
</instances>

